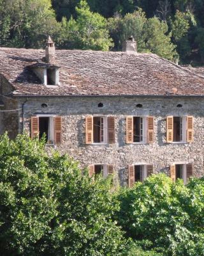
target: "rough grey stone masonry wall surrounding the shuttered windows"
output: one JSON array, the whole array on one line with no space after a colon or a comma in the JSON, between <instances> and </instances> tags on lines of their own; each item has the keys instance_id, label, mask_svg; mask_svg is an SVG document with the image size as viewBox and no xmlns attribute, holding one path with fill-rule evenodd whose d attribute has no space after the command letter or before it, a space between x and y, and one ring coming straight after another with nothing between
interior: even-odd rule
<instances>
[{"instance_id":1,"label":"rough grey stone masonry wall surrounding the shuttered windows","mask_svg":"<svg viewBox=\"0 0 204 256\"><path fill-rule=\"evenodd\" d=\"M24 102L25 99L22 99ZM21 103L22 103L21 102ZM104 104L98 108L98 103ZM21 104L20 103L20 104ZM47 104L42 108L41 104ZM142 104L143 108L136 108ZM182 108L177 108L182 104ZM28 99L25 104L25 129L30 132L31 116L36 113L62 116L62 144L58 149L89 164L115 164L120 184L128 182L128 165L154 164L154 172L169 175L172 163L194 163L194 175L204 174L204 98L145 97L53 97ZM114 145L85 145L85 116L115 116ZM126 116L155 116L153 144L126 144ZM194 116L193 143L166 143L166 116ZM20 120L22 125L22 118Z\"/></svg>"}]
</instances>

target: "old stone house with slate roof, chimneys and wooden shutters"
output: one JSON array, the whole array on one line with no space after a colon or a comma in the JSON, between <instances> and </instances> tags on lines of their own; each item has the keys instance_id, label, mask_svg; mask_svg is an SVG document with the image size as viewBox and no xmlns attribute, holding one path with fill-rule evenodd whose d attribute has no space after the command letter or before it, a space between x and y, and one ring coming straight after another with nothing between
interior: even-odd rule
<instances>
[{"instance_id":1,"label":"old stone house with slate roof, chimneys and wooden shutters","mask_svg":"<svg viewBox=\"0 0 204 256\"><path fill-rule=\"evenodd\" d=\"M132 186L163 172L201 177L204 76L155 54L0 48L0 132L27 131Z\"/></svg>"}]
</instances>

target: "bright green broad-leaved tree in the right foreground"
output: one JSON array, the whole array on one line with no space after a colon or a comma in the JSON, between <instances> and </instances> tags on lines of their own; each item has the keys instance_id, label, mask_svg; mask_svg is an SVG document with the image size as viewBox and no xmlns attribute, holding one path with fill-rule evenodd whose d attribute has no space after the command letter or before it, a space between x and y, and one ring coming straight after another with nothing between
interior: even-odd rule
<instances>
[{"instance_id":1,"label":"bright green broad-leaved tree in the right foreground","mask_svg":"<svg viewBox=\"0 0 204 256\"><path fill-rule=\"evenodd\" d=\"M126 236L149 243L164 255L204 255L204 180L172 182L152 175L133 189L122 189L117 220Z\"/></svg>"}]
</instances>

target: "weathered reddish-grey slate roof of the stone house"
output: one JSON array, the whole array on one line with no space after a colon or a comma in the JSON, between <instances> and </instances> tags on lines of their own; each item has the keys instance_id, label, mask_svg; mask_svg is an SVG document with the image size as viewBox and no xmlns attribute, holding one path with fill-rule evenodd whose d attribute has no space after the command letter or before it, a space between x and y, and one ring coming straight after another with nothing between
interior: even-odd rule
<instances>
[{"instance_id":1,"label":"weathered reddish-grey slate roof of the stone house","mask_svg":"<svg viewBox=\"0 0 204 256\"><path fill-rule=\"evenodd\" d=\"M44 56L45 50L0 48L0 73L13 95L204 96L204 76L155 54L126 52L56 51L61 84L48 87L29 68Z\"/></svg>"}]
</instances>

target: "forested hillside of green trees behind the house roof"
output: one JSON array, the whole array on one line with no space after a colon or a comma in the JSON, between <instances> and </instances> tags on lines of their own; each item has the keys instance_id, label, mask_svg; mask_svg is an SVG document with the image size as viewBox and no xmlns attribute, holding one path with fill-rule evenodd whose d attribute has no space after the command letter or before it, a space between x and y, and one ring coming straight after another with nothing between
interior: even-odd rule
<instances>
[{"instance_id":1,"label":"forested hillside of green trees behind the house roof","mask_svg":"<svg viewBox=\"0 0 204 256\"><path fill-rule=\"evenodd\" d=\"M0 0L0 45L121 51L133 35L138 52L204 63L203 0Z\"/></svg>"}]
</instances>

